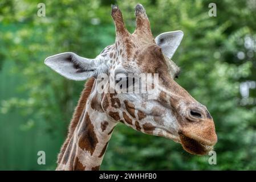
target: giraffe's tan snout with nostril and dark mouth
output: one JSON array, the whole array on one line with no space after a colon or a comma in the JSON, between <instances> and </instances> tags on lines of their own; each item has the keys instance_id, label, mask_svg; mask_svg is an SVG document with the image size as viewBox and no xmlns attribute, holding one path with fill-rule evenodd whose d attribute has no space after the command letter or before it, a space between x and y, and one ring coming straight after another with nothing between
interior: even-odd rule
<instances>
[{"instance_id":1,"label":"giraffe's tan snout with nostril and dark mouth","mask_svg":"<svg viewBox=\"0 0 256 182\"><path fill-rule=\"evenodd\" d=\"M186 121L178 131L183 148L190 154L205 155L217 143L212 116L203 105L189 106Z\"/></svg>"}]
</instances>

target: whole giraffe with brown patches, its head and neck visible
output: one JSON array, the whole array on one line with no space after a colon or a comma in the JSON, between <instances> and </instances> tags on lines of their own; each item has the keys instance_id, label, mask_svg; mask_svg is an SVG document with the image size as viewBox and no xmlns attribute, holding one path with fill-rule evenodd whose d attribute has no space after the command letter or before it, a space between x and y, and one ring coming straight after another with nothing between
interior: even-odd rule
<instances>
[{"instance_id":1,"label":"whole giraffe with brown patches, its head and neck visible","mask_svg":"<svg viewBox=\"0 0 256 182\"><path fill-rule=\"evenodd\" d=\"M112 5L111 15L116 29L115 43L105 47L95 59L64 52L44 61L70 80L87 80L58 155L56 170L99 170L112 131L120 122L142 133L181 143L190 154L208 154L217 142L213 118L204 105L177 84L180 68L170 60L183 32L164 32L154 38L140 4L135 7L133 34L125 28L118 6ZM157 73L159 92L153 93L156 96L153 100L144 93L110 93L111 85L105 82L100 93L97 87L101 73L114 73L114 82L122 80L116 80L119 75L128 77L128 73Z\"/></svg>"}]
</instances>

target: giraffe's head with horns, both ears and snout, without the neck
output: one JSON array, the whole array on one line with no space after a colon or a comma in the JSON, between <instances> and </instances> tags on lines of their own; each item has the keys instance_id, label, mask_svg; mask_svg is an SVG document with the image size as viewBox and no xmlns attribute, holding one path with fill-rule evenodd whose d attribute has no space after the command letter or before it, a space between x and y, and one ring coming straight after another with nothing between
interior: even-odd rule
<instances>
[{"instance_id":1,"label":"giraffe's head with horns, both ears and snout, without the neck","mask_svg":"<svg viewBox=\"0 0 256 182\"><path fill-rule=\"evenodd\" d=\"M217 142L213 118L204 105L177 84L175 78L180 69L170 60L183 32L165 32L154 38L142 5L135 8L136 30L133 34L125 28L117 6L112 6L111 15L116 27L115 44L104 48L95 59L65 52L47 57L46 65L71 80L97 78L92 92L100 98L99 107L109 121L123 122L143 133L172 139L191 154L207 154ZM148 78L130 79L129 73L157 74L158 82L149 83ZM100 75L110 76L108 82L102 84ZM111 93L111 81L122 90L132 87L132 93ZM142 82L157 88L151 92L155 99L148 99L148 93L141 93ZM139 83L139 93L133 90L136 83ZM103 92L95 91L99 87ZM97 109L96 106L93 108Z\"/></svg>"}]
</instances>

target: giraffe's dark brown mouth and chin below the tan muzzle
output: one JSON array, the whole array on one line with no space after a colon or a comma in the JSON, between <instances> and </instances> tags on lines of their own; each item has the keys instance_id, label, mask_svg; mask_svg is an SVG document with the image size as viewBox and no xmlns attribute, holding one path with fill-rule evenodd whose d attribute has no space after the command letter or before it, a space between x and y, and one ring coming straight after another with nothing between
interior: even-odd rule
<instances>
[{"instance_id":1,"label":"giraffe's dark brown mouth and chin below the tan muzzle","mask_svg":"<svg viewBox=\"0 0 256 182\"><path fill-rule=\"evenodd\" d=\"M213 146L207 145L202 141L187 137L183 133L179 133L180 143L185 151L193 155L206 155L213 150Z\"/></svg>"}]
</instances>

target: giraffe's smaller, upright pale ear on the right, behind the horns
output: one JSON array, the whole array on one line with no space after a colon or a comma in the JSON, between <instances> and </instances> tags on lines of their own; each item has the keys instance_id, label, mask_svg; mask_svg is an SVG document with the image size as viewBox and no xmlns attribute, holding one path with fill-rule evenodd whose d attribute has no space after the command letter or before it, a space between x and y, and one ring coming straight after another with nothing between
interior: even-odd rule
<instances>
[{"instance_id":1,"label":"giraffe's smaller, upright pale ear on the right, behind the horns","mask_svg":"<svg viewBox=\"0 0 256 182\"><path fill-rule=\"evenodd\" d=\"M155 42L158 46L161 47L162 53L171 59L178 46L180 46L183 35L183 32L180 30L164 32L156 36Z\"/></svg>"}]
</instances>

